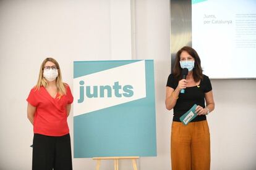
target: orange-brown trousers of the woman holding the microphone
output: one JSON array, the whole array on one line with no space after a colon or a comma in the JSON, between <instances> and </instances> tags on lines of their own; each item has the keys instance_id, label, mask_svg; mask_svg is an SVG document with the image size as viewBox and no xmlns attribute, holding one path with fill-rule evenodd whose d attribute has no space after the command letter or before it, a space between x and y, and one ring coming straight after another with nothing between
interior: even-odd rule
<instances>
[{"instance_id":1,"label":"orange-brown trousers of the woman holding the microphone","mask_svg":"<svg viewBox=\"0 0 256 170\"><path fill-rule=\"evenodd\" d=\"M173 121L171 126L172 170L210 169L210 132L207 120L185 126Z\"/></svg>"}]
</instances>

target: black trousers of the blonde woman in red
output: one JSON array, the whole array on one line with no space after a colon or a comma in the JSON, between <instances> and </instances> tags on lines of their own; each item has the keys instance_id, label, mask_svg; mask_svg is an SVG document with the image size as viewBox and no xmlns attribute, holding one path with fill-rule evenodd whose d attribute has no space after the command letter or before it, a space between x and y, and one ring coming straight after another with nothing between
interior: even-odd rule
<instances>
[{"instance_id":1,"label":"black trousers of the blonde woman in red","mask_svg":"<svg viewBox=\"0 0 256 170\"><path fill-rule=\"evenodd\" d=\"M69 134L44 136L34 134L32 170L72 170Z\"/></svg>"}]
</instances>

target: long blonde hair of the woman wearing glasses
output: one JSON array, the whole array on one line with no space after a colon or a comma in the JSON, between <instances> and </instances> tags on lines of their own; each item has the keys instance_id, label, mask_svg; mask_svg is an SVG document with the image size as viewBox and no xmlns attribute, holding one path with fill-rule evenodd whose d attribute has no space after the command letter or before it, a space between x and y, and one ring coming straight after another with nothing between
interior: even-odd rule
<instances>
[{"instance_id":1,"label":"long blonde hair of the woman wearing glasses","mask_svg":"<svg viewBox=\"0 0 256 170\"><path fill-rule=\"evenodd\" d=\"M46 87L48 85L46 79L43 77L43 69L45 68L46 62L53 62L57 66L59 74L58 74L58 77L56 78L56 86L57 86L59 95L66 94L66 87L65 87L66 84L63 83L62 81L61 68L59 68L59 63L55 59L50 57L46 58L45 60L43 60L43 63L41 63L38 81L36 83L35 89L39 90L41 86Z\"/></svg>"}]
</instances>

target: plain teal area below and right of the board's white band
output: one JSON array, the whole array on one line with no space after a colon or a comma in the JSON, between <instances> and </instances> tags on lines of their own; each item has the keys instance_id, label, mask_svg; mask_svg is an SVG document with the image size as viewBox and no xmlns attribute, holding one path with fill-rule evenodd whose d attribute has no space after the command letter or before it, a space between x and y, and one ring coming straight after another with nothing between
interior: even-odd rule
<instances>
[{"instance_id":1,"label":"plain teal area below and right of the board's white band","mask_svg":"<svg viewBox=\"0 0 256 170\"><path fill-rule=\"evenodd\" d=\"M145 98L74 117L75 158L156 156L153 60L145 63Z\"/></svg>"}]
</instances>

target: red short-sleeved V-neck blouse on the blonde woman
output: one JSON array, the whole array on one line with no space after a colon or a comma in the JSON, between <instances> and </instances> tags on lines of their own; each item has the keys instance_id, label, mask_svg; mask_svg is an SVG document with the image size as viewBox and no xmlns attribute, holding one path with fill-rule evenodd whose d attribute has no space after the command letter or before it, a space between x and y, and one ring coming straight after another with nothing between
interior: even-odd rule
<instances>
[{"instance_id":1,"label":"red short-sleeved V-neck blouse on the blonde woman","mask_svg":"<svg viewBox=\"0 0 256 170\"><path fill-rule=\"evenodd\" d=\"M55 98L41 86L39 90L31 89L28 103L36 107L34 117L34 133L46 136L64 136L69 134L67 125L67 104L73 102L73 96L68 85L66 95L56 95Z\"/></svg>"}]
</instances>

